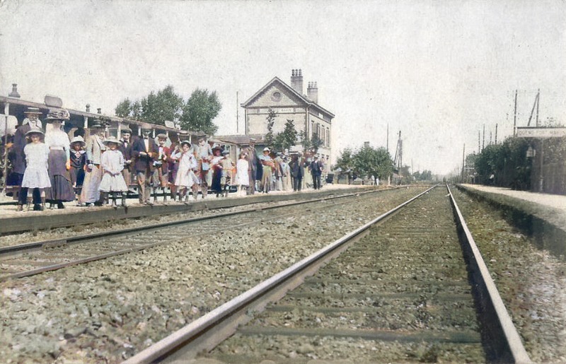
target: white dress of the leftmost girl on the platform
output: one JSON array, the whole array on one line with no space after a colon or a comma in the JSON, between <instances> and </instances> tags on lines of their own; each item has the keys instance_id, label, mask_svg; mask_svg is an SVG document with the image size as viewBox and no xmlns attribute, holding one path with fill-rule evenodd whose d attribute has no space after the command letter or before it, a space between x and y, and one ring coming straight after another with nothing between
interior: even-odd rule
<instances>
[{"instance_id":1,"label":"white dress of the leftmost girl on the platform","mask_svg":"<svg viewBox=\"0 0 566 364\"><path fill-rule=\"evenodd\" d=\"M49 147L45 143L29 143L23 148L23 153L28 165L23 172L22 187L51 187L49 173L47 173Z\"/></svg>"}]
</instances>

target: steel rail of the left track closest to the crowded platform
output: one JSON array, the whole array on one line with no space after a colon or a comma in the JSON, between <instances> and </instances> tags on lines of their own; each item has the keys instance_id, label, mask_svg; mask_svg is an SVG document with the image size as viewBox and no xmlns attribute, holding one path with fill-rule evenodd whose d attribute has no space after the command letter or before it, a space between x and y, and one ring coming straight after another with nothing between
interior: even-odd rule
<instances>
[{"instance_id":1,"label":"steel rail of the left track closest to the crowded platform","mask_svg":"<svg viewBox=\"0 0 566 364\"><path fill-rule=\"evenodd\" d=\"M178 220L178 221L171 221L171 222L167 222L167 223L156 223L156 224L151 224L151 225L146 225L146 226L138 226L135 228L125 228L125 229L120 229L120 230L109 230L109 231L104 231L102 233L93 233L93 234L86 234L86 235L76 235L74 237L63 237L61 239L52 239L52 240L44 240L44 241L40 241L40 242L27 242L25 244L18 244L18 245L11 245L8 247L0 247L0 258L2 257L8 257L8 256L12 256L14 254L22 254L24 252L33 252L33 251L37 251L37 250L41 250L45 247L57 247L60 245L68 245L68 244L77 244L80 242L83 242L84 240L95 240L95 239L99 239L102 237L113 237L113 236L120 236L120 235L127 235L129 233L139 233L141 231L151 231L151 230L159 230L162 228L168 228L174 225L183 225L185 223L194 223L197 221L206 221L206 220L210 220L212 218L221 218L224 216L236 216L242 213L250 213L253 211L264 211L264 210L270 210L270 209L278 209L280 207L287 207L287 206L295 206L295 205L301 205L301 204L311 204L313 202L318 202L318 201L326 201L326 200L332 200L332 199L342 199L345 197L352 197L352 196L358 196L358 195L362 195L362 194L371 194L371 193L377 193L377 192L383 192L383 191L389 191L388 189L380 189L380 190L372 190L372 191L367 191L367 192L357 192L357 193L353 193L353 194L340 194L338 196L325 196L325 197L320 197L318 199L308 199L308 200L304 200L304 201L294 201L294 202L288 202L285 204L277 204L274 206L264 206L264 207L253 207L251 209L245 209L245 210L241 210L241 211L229 211L226 213L216 213L216 214L212 214L212 215L208 215L208 216L198 216L195 218L185 218L182 220Z\"/></svg>"}]
</instances>

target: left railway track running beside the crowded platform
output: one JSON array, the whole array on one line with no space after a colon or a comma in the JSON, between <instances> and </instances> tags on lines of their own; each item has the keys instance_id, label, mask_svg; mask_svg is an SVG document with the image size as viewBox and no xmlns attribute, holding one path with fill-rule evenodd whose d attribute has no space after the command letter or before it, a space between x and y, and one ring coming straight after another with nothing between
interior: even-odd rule
<instances>
[{"instance_id":1,"label":"left railway track running beside the crowded platform","mask_svg":"<svg viewBox=\"0 0 566 364\"><path fill-rule=\"evenodd\" d=\"M67 266L94 262L108 257L149 249L156 245L177 241L183 235L187 235L187 233L196 236L207 234L212 230L233 230L234 228L262 223L273 218L294 215L296 210L293 210L293 207L297 205L332 201L331 203L313 206L309 209L329 209L333 208L333 206L335 208L335 206L352 203L351 199L367 198L367 194L375 192L377 191L325 196L324 198L294 201L275 206L253 207L240 211L182 219L173 223L147 225L143 228L127 228L105 233L2 247L0 248L0 281L33 276ZM274 209L279 209L279 213L270 213L267 216L265 211ZM286 211L286 209L289 211ZM238 222L234 223L233 217L236 215L238 215Z\"/></svg>"}]
</instances>

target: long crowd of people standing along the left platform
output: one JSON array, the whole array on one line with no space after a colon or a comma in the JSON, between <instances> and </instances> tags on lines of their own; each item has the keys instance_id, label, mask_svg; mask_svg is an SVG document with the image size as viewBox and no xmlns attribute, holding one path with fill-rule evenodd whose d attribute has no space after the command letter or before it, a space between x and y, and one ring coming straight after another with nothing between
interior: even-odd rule
<instances>
[{"instance_id":1,"label":"long crowd of people standing along the left platform","mask_svg":"<svg viewBox=\"0 0 566 364\"><path fill-rule=\"evenodd\" d=\"M120 139L106 136L105 125L94 120L86 140L69 137L62 124L66 110L47 115L45 131L40 110L28 107L21 127L13 135L8 151L11 172L7 184L16 188L17 210L64 209L64 202L78 206L110 205L127 207L130 187L137 186L139 203L156 204L158 192L163 204L187 204L207 198L209 189L228 196L236 187L239 196L269 193L272 190L320 189L325 163L314 153L275 153L263 148L258 153L255 139L241 150L238 160L230 151L209 143L205 136L193 145L187 131L179 131L175 141L166 134L151 136L151 127L141 127L141 137L132 140L132 130L120 131ZM151 195L153 194L153 199Z\"/></svg>"}]
</instances>

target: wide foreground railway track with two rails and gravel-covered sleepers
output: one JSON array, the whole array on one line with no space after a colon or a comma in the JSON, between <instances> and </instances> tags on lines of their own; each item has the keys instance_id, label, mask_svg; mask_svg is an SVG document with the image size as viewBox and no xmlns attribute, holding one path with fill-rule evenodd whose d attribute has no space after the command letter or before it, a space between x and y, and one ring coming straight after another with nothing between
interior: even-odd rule
<instances>
[{"instance_id":1,"label":"wide foreground railway track with two rails and gravel-covered sleepers","mask_svg":"<svg viewBox=\"0 0 566 364\"><path fill-rule=\"evenodd\" d=\"M529 363L449 196L415 196L125 363Z\"/></svg>"}]
</instances>

